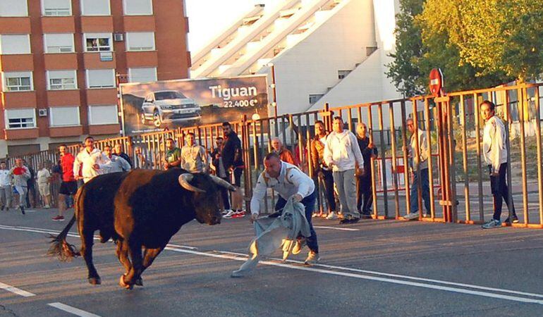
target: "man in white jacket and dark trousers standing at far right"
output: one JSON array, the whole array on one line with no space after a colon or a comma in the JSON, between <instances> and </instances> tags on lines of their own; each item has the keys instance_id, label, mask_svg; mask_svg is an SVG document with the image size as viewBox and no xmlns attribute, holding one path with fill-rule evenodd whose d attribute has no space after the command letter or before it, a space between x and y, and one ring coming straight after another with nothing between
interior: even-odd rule
<instances>
[{"instance_id":1,"label":"man in white jacket and dark trousers standing at far right","mask_svg":"<svg viewBox=\"0 0 543 317\"><path fill-rule=\"evenodd\" d=\"M482 118L484 118L484 130L482 134L482 153L484 161L488 165L490 175L490 189L494 197L494 215L492 220L482 225L484 229L501 227L502 199L509 206L509 190L507 187L507 144L506 129L501 119L496 116L496 105L492 101L485 100L480 105ZM513 223L518 223L515 212L515 204L511 201L511 213ZM507 217L506 223L511 219Z\"/></svg>"}]
</instances>

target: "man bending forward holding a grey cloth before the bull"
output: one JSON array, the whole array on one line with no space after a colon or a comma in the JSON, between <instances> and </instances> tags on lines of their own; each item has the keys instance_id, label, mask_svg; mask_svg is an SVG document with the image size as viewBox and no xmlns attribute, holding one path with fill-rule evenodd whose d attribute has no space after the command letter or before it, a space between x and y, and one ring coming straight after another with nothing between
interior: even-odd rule
<instances>
[{"instance_id":1,"label":"man bending forward holding a grey cloth before the bull","mask_svg":"<svg viewBox=\"0 0 543 317\"><path fill-rule=\"evenodd\" d=\"M268 188L273 188L279 199L275 204L275 210L281 211L286 205L287 199L293 197L294 201L301 202L305 206L305 218L310 226L311 237L307 238L307 247L310 249L305 264L313 264L319 261L319 244L317 233L313 229L311 217L315 210L315 183L305 175L297 166L279 159L276 153L267 154L264 158L264 171L257 180L257 185L251 198L251 223L258 218L260 213L260 201L264 199Z\"/></svg>"}]
</instances>

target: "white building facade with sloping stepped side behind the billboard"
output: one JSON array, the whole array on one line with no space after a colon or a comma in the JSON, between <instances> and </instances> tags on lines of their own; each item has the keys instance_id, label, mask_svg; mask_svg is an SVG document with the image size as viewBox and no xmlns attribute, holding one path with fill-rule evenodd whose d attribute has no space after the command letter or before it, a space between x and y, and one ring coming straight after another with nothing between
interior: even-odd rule
<instances>
[{"instance_id":1,"label":"white building facade with sloping stepped side behind the billboard","mask_svg":"<svg viewBox=\"0 0 543 317\"><path fill-rule=\"evenodd\" d=\"M396 99L384 73L397 11L396 0L285 0L197 52L191 77L267 73L271 83L273 65L279 115Z\"/></svg>"}]
</instances>

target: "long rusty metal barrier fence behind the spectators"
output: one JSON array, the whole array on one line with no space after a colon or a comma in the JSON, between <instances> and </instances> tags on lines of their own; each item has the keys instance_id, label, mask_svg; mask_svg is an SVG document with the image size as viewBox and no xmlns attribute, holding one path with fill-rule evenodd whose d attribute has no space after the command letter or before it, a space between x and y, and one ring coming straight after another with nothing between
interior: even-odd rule
<instances>
[{"instance_id":1,"label":"long rusty metal barrier fence behind the spectators","mask_svg":"<svg viewBox=\"0 0 543 317\"><path fill-rule=\"evenodd\" d=\"M400 219L410 213L408 201L412 176L406 166L412 158L408 157L408 151L403 145L408 144L410 139L405 120L412 118L415 130L420 128L427 134L427 147L432 154L427 170L431 176L429 187L432 189L429 192L430 216L420 220L483 223L490 219L493 204L489 177L481 158L484 122L479 105L483 100L490 100L497 106L496 114L507 123L509 199L516 200L517 205L522 201L522 212L518 215L520 223L513 226L543 228L541 86L503 86L453 92L445 97L420 96L335 108L327 104L320 111L258 120L240 118L231 125L240 136L243 146L246 206L249 206L252 185L263 170L262 159L271 151L272 137L279 137L287 149L297 153L300 166L315 178L310 163L310 140L315 136L314 123L322 120L327 130L331 131L332 118L340 116L346 128L354 133L356 123L366 123L370 140L379 150L379 157L372 159L371 164L373 218ZM99 140L97 147L102 149L104 144L121 143L124 151L133 157L136 168L159 169L164 160L166 139L175 139L178 147L181 147L187 132L193 132L197 142L211 152L214 139L221 135L221 124ZM415 139L415 147L420 147L418 139ZM80 144L69 147L73 154L77 154L79 148ZM418 151L414 153L418 155ZM23 156L23 159L36 169L40 162L56 162L59 158L55 151L42 151ZM527 166L528 159L530 167ZM12 163L13 159L9 161ZM422 210L421 194L418 194L417 199L419 210ZM271 208L269 203L273 204L274 200L271 193L264 206L265 210ZM323 206L321 201L319 206Z\"/></svg>"}]
</instances>

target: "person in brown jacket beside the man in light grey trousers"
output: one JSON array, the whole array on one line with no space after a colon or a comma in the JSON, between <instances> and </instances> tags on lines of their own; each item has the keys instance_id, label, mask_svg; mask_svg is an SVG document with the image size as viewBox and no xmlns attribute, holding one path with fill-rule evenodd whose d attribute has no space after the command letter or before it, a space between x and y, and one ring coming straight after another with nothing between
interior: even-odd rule
<instances>
[{"instance_id":1,"label":"person in brown jacket beside the man in light grey trousers","mask_svg":"<svg viewBox=\"0 0 543 317\"><path fill-rule=\"evenodd\" d=\"M328 219L336 219L336 198L334 197L334 175L324 162L324 146L328 132L321 120L315 121L315 137L311 140L311 163L319 184L324 185L324 197L327 199ZM323 216L318 214L317 216Z\"/></svg>"}]
</instances>

